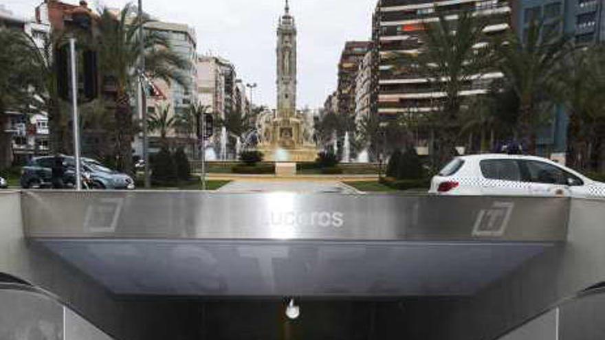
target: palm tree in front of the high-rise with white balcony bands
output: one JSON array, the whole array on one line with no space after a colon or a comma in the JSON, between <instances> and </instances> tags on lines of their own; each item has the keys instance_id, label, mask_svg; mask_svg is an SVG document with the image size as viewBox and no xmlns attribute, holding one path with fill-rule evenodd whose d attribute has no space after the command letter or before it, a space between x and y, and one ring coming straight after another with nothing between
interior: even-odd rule
<instances>
[{"instance_id":1,"label":"palm tree in front of the high-rise with white balcony bands","mask_svg":"<svg viewBox=\"0 0 605 340\"><path fill-rule=\"evenodd\" d=\"M434 112L439 139L439 162L448 161L459 135L459 119L465 97L461 92L494 68L492 44L484 32L488 22L470 12L456 21L443 14L439 21L426 23L421 37L423 47L416 55L399 54L399 67L416 69L432 89L444 93Z\"/></svg>"}]
</instances>

